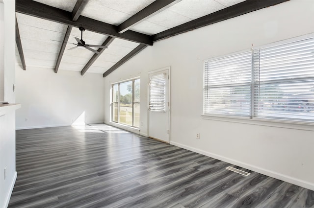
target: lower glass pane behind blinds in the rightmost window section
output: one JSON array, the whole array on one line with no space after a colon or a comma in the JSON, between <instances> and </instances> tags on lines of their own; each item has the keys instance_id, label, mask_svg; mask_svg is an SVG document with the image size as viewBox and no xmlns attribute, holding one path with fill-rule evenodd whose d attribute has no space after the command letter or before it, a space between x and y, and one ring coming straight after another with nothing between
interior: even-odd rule
<instances>
[{"instance_id":1,"label":"lower glass pane behind blinds in the rightmost window section","mask_svg":"<svg viewBox=\"0 0 314 208\"><path fill-rule=\"evenodd\" d=\"M256 87L255 116L313 120L314 82L283 82Z\"/></svg>"}]
</instances>

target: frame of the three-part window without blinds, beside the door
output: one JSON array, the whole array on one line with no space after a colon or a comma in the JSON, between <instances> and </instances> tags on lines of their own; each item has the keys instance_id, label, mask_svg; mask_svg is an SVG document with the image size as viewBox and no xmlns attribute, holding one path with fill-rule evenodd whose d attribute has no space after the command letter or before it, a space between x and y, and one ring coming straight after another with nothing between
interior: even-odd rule
<instances>
[{"instance_id":1,"label":"frame of the three-part window without blinds, beside the door","mask_svg":"<svg viewBox=\"0 0 314 208\"><path fill-rule=\"evenodd\" d=\"M140 78L139 77L135 77L135 78L131 78L131 79L127 79L127 80L123 80L123 81L120 81L120 82L114 82L114 83L111 83L111 116L110 116L110 121L111 122L114 122L114 123L117 123L117 124L120 124L120 125L125 125L125 126L129 126L129 127L132 127L132 128L136 128L136 129L139 129L139 126L134 126L134 104L140 104L140 100L139 102L134 102L135 100L135 97L134 97L134 89L135 89L135 86L134 86L134 83L135 83L135 80L139 80L140 81ZM120 84L122 83L126 83L126 82L130 82L132 83L132 102L131 102L131 105L132 105L132 124L131 125L128 125L128 124L125 124L125 123L121 123L120 122ZM118 92L117 92L117 96L118 96L118 102L114 101L113 99L113 95L114 95L114 85L117 85L118 86ZM117 111L117 121L115 121L113 119L113 111L114 111L114 104L117 104L118 106L118 111ZM140 123L140 121L139 121Z\"/></svg>"}]
</instances>

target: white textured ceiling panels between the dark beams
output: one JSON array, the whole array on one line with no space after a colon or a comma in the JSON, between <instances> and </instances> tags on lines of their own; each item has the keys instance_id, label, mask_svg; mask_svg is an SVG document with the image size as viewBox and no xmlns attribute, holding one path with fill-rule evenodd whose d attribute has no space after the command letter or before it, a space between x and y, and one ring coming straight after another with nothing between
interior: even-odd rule
<instances>
[{"instance_id":1,"label":"white textured ceiling panels between the dark beams","mask_svg":"<svg viewBox=\"0 0 314 208\"><path fill-rule=\"evenodd\" d=\"M72 12L77 0L35 0L53 7ZM119 25L136 14L154 0L88 0L81 15L109 24ZM138 23L131 30L153 35L169 28L187 23L199 17L224 9L244 0L181 0L155 16ZM54 23L40 18L17 13L17 22L26 61L26 67L54 69L64 39L67 25ZM84 27L84 25L82 25ZM73 27L69 43L76 43L74 37L80 39L80 31ZM83 32L86 44L102 45L107 36L91 32ZM87 70L89 73L104 73L115 63L131 52L138 43L122 39L114 39L107 49ZM68 50L65 48L59 70L81 71L90 58L92 51L84 48ZM98 49L98 48L94 48ZM20 64L18 52L17 63Z\"/></svg>"}]
</instances>

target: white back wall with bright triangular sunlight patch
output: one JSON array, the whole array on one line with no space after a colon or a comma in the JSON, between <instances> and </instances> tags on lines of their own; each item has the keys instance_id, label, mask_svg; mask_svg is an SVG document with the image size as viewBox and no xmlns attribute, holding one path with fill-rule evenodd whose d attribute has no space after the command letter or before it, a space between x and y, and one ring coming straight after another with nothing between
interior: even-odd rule
<instances>
[{"instance_id":1,"label":"white back wall with bright triangular sunlight patch","mask_svg":"<svg viewBox=\"0 0 314 208\"><path fill-rule=\"evenodd\" d=\"M103 76L16 65L16 102L17 129L103 123Z\"/></svg>"}]
</instances>

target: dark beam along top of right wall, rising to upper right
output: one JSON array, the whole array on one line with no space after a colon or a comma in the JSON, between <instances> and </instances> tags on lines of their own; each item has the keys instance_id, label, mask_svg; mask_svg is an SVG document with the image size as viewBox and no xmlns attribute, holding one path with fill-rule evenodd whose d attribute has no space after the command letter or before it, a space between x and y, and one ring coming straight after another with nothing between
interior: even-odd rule
<instances>
[{"instance_id":1,"label":"dark beam along top of right wall, rising to upper right","mask_svg":"<svg viewBox=\"0 0 314 208\"><path fill-rule=\"evenodd\" d=\"M225 9L216 11L204 17L192 20L187 23L183 23L176 27L170 28L163 32L159 32L153 35L153 41L159 41L165 38L169 38L175 35L179 35L190 30L194 30L200 27L207 26L209 24L218 23L224 20L228 20L249 12L253 12L262 8L273 6L288 0L246 0L237 3L233 6L227 7Z\"/></svg>"}]
</instances>

